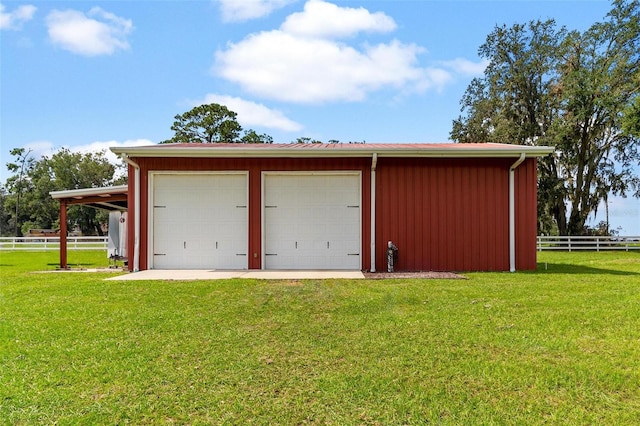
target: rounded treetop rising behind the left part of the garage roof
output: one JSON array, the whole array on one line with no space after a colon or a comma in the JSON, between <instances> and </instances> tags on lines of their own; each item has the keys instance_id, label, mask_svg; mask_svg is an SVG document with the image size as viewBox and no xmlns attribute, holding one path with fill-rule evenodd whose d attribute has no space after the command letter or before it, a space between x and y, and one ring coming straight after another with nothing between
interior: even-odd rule
<instances>
[{"instance_id":1,"label":"rounded treetop rising behind the left part of the garage roof","mask_svg":"<svg viewBox=\"0 0 640 426\"><path fill-rule=\"evenodd\" d=\"M199 105L175 116L175 135L162 143L237 143L242 126L237 114L219 104Z\"/></svg>"}]
</instances>

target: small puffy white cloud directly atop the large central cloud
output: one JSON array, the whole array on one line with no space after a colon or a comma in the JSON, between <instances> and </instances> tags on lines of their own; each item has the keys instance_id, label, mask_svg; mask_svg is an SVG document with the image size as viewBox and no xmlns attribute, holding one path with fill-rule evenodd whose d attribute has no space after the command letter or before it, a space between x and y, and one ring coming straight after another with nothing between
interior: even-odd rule
<instances>
[{"instance_id":1,"label":"small puffy white cloud directly atop the large central cloud","mask_svg":"<svg viewBox=\"0 0 640 426\"><path fill-rule=\"evenodd\" d=\"M310 0L304 11L287 17L280 29L297 36L338 38L356 33L386 33L396 29L395 21L382 12L339 7L322 0Z\"/></svg>"}]
</instances>

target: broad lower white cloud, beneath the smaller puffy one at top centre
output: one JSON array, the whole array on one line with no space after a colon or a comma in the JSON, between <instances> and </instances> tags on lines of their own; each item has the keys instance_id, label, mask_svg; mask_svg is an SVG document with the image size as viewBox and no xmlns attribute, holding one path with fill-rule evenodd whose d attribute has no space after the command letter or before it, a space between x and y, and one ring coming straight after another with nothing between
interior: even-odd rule
<instances>
[{"instance_id":1,"label":"broad lower white cloud, beneath the smaller puffy one at top centre","mask_svg":"<svg viewBox=\"0 0 640 426\"><path fill-rule=\"evenodd\" d=\"M418 55L423 51L399 41L358 49L274 30L252 34L218 51L214 72L269 99L360 101L384 87L424 90L442 82L432 79L434 70L419 67Z\"/></svg>"}]
</instances>

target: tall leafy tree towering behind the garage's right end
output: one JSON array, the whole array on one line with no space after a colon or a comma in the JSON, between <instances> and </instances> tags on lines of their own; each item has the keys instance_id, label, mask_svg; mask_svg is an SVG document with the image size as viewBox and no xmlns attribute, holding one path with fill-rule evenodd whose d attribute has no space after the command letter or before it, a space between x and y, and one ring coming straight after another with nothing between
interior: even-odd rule
<instances>
[{"instance_id":1,"label":"tall leafy tree towering behind the garage's right end","mask_svg":"<svg viewBox=\"0 0 640 426\"><path fill-rule=\"evenodd\" d=\"M583 234L610 194L640 196L639 13L637 0L615 0L584 33L533 21L494 29L479 49L490 64L451 138L555 146L539 161L539 232Z\"/></svg>"}]
</instances>

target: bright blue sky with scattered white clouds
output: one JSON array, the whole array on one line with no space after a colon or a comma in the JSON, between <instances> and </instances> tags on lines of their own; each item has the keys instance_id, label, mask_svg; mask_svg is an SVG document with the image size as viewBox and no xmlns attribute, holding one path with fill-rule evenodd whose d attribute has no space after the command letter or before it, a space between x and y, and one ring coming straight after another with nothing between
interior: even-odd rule
<instances>
[{"instance_id":1,"label":"bright blue sky with scattered white clouds","mask_svg":"<svg viewBox=\"0 0 640 426\"><path fill-rule=\"evenodd\" d=\"M0 1L0 144L157 143L216 102L277 143L447 142L496 25L584 30L608 1ZM0 168L0 180L7 172ZM602 209L604 211L604 209ZM640 202L610 220L640 234Z\"/></svg>"}]
</instances>

